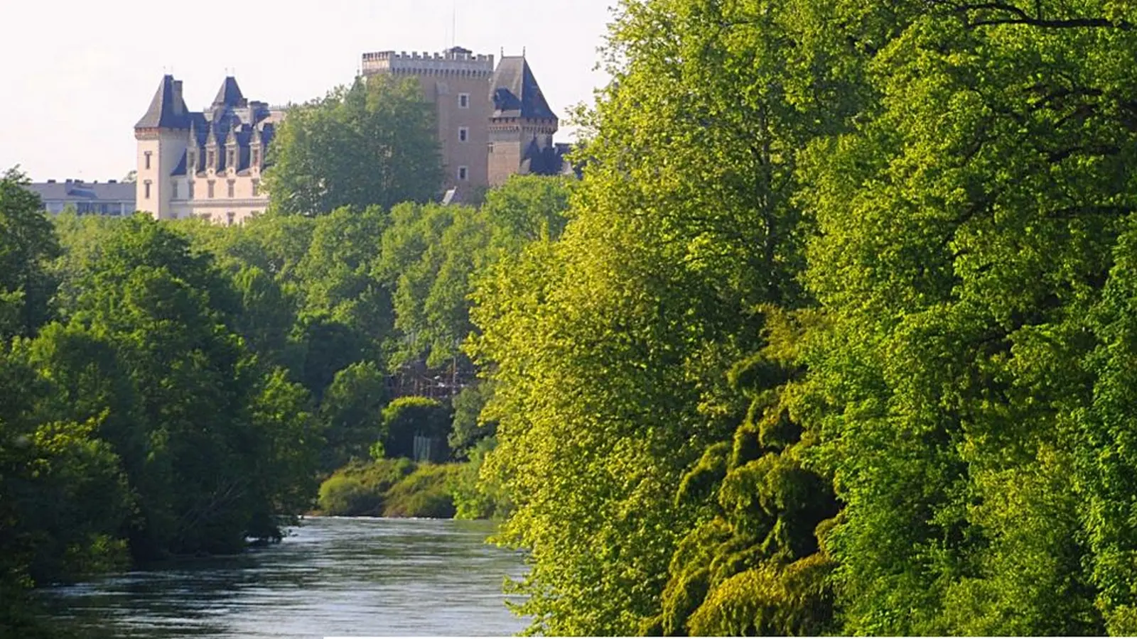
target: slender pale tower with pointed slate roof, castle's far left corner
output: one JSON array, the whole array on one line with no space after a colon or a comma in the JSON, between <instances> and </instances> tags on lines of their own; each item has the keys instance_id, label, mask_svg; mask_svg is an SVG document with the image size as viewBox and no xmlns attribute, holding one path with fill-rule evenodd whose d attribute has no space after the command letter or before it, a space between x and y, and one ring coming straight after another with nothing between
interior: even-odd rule
<instances>
[{"instance_id":1,"label":"slender pale tower with pointed slate roof, castle's far left corner","mask_svg":"<svg viewBox=\"0 0 1137 639\"><path fill-rule=\"evenodd\" d=\"M182 83L166 75L142 119L134 125L138 140L138 209L156 218L173 216L169 175L185 155L190 128Z\"/></svg>"}]
</instances>

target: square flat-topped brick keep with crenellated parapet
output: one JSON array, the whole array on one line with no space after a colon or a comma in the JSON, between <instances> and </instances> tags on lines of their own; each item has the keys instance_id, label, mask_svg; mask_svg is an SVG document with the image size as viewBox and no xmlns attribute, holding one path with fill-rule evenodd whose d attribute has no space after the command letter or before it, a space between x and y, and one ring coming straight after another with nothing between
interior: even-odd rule
<instances>
[{"instance_id":1,"label":"square flat-topped brick keep with crenellated parapet","mask_svg":"<svg viewBox=\"0 0 1137 639\"><path fill-rule=\"evenodd\" d=\"M493 56L454 47L441 53L377 51L363 55L363 75L416 77L438 114L445 190L459 198L489 184L487 147L491 105L485 94Z\"/></svg>"}]
</instances>

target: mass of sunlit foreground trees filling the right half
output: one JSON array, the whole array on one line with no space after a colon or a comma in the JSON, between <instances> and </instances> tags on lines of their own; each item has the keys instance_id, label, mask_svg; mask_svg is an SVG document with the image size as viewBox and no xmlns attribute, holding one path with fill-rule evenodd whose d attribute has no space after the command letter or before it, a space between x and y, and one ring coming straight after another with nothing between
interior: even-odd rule
<instances>
[{"instance_id":1,"label":"mass of sunlit foreground trees filling the right half","mask_svg":"<svg viewBox=\"0 0 1137 639\"><path fill-rule=\"evenodd\" d=\"M474 293L534 632L1137 632L1135 25L621 3Z\"/></svg>"}]
</instances>

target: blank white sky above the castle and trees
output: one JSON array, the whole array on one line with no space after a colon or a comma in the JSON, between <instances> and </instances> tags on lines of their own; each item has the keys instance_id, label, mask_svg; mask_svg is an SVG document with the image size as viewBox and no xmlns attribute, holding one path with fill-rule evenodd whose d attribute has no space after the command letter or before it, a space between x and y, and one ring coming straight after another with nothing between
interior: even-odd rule
<instances>
[{"instance_id":1,"label":"blank white sky above the castle and trees","mask_svg":"<svg viewBox=\"0 0 1137 639\"><path fill-rule=\"evenodd\" d=\"M451 42L495 56L525 48L564 119L606 81L594 67L612 3L0 0L0 172L18 164L34 181L123 177L134 168L134 123L163 73L184 81L193 110L213 100L226 69L249 99L302 102L350 82L364 51Z\"/></svg>"}]
</instances>

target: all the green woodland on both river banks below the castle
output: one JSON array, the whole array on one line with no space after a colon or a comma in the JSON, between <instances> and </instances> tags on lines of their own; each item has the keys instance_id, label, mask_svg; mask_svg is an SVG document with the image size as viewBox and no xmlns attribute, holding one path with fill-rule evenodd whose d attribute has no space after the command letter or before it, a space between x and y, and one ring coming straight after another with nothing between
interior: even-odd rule
<instances>
[{"instance_id":1,"label":"all the green woodland on both river banks below the castle","mask_svg":"<svg viewBox=\"0 0 1137 639\"><path fill-rule=\"evenodd\" d=\"M533 633L1137 633L1137 7L622 0L603 60L583 179L479 206L309 189L393 85L240 227L9 173L0 613L318 500L501 517Z\"/></svg>"}]
</instances>

